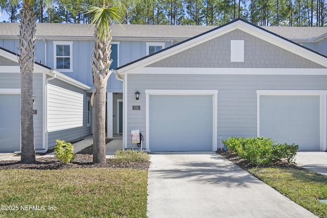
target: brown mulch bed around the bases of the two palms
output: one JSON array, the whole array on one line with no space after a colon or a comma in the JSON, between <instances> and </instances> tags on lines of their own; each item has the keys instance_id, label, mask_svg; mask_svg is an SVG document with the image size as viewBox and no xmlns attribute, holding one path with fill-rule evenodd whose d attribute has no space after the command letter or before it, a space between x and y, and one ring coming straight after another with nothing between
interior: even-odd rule
<instances>
[{"instance_id":1,"label":"brown mulch bed around the bases of the two palms","mask_svg":"<svg viewBox=\"0 0 327 218\"><path fill-rule=\"evenodd\" d=\"M108 139L110 140L110 139ZM106 143L108 143L106 141ZM144 169L149 168L150 163L130 162L130 163L115 163L113 159L107 159L107 163L93 164L91 154L93 153L93 145L83 149L75 155L75 159L71 163L63 163L55 157L39 157L35 163L24 164L16 160L2 160L0 161L1 169L68 169L68 168L133 168Z\"/></svg>"}]
</instances>

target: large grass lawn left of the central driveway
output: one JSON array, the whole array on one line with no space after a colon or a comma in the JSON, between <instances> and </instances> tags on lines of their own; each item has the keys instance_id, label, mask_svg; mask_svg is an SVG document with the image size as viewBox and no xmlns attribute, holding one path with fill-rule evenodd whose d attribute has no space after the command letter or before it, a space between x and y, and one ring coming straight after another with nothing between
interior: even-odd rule
<instances>
[{"instance_id":1,"label":"large grass lawn left of the central driveway","mask_svg":"<svg viewBox=\"0 0 327 218\"><path fill-rule=\"evenodd\" d=\"M1 205L18 208L0 217L146 217L147 171L139 169L10 169L0 184Z\"/></svg>"}]
</instances>

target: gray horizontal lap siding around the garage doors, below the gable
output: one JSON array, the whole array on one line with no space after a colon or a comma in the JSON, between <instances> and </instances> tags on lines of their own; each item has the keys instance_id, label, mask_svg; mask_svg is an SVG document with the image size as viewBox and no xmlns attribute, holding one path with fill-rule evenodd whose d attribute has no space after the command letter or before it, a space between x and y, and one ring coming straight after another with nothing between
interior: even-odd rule
<instances>
[{"instance_id":1,"label":"gray horizontal lap siding around the garage doors, below the gable","mask_svg":"<svg viewBox=\"0 0 327 218\"><path fill-rule=\"evenodd\" d=\"M141 129L146 135L145 89L218 90L218 140L231 136L256 137L257 94L263 89L326 90L326 76L282 75L128 75L127 137L130 130ZM134 92L141 95L135 103ZM132 110L132 105L141 110ZM128 148L135 147L127 139ZM219 141L218 141L219 143Z\"/></svg>"}]
</instances>

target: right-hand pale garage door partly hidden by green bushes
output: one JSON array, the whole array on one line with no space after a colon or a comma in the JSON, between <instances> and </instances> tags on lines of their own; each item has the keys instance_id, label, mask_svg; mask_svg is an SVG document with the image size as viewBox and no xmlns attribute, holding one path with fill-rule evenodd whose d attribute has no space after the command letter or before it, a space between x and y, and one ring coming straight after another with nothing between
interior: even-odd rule
<instances>
[{"instance_id":1,"label":"right-hand pale garage door partly hidden by green bushes","mask_svg":"<svg viewBox=\"0 0 327 218\"><path fill-rule=\"evenodd\" d=\"M260 96L260 135L319 151L319 96Z\"/></svg>"}]
</instances>

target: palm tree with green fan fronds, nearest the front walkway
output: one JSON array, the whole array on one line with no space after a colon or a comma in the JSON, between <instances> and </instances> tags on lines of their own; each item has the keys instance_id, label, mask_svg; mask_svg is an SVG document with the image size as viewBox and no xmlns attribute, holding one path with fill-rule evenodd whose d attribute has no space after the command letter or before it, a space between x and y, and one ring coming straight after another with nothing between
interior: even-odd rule
<instances>
[{"instance_id":1,"label":"palm tree with green fan fronds, nearest the front walkway","mask_svg":"<svg viewBox=\"0 0 327 218\"><path fill-rule=\"evenodd\" d=\"M90 23L95 26L95 45L92 54L92 77L94 92L91 96L91 105L94 107L93 129L93 163L106 162L105 147L105 109L107 81L112 73L109 67L112 63L111 54L111 25L113 22L121 23L128 6L134 6L142 0L102 0L102 7L89 6L85 14L90 15ZM153 5L155 0L149 0Z\"/></svg>"}]
</instances>

